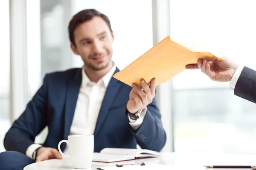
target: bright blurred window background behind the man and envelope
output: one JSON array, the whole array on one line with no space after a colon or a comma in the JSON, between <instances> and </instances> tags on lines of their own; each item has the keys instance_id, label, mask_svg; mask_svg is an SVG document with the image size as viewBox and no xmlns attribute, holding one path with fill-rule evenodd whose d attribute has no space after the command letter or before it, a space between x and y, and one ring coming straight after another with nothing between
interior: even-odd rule
<instances>
[{"instance_id":1,"label":"bright blurred window background behind the man and envelope","mask_svg":"<svg viewBox=\"0 0 256 170\"><path fill-rule=\"evenodd\" d=\"M1 0L0 152L6 131L44 75L82 67L70 50L67 25L86 8L110 18L119 69L168 34L256 68L253 0ZM183 71L158 86L167 133L163 151L256 153L256 104L233 93L228 82L212 82L198 70ZM36 142L46 135L47 128Z\"/></svg>"}]
</instances>

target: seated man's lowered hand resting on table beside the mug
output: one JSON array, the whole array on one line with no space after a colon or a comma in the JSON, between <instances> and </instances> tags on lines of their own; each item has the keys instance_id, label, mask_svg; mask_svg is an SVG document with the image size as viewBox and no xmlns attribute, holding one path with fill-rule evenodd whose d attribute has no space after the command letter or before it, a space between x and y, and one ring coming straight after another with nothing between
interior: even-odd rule
<instances>
[{"instance_id":1,"label":"seated man's lowered hand resting on table beside the mug","mask_svg":"<svg viewBox=\"0 0 256 170\"><path fill-rule=\"evenodd\" d=\"M41 147L38 150L36 162L53 158L62 159L61 153L59 153L58 150L51 147Z\"/></svg>"}]
</instances>

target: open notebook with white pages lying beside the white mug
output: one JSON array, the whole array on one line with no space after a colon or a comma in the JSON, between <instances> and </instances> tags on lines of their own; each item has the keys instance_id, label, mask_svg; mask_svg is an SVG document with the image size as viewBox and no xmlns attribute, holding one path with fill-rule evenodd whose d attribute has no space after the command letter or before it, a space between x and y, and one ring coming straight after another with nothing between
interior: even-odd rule
<instances>
[{"instance_id":1,"label":"open notebook with white pages lying beside the white mug","mask_svg":"<svg viewBox=\"0 0 256 170\"><path fill-rule=\"evenodd\" d=\"M93 161L116 162L154 156L160 156L160 153L146 149L104 148L100 153L93 153Z\"/></svg>"}]
</instances>

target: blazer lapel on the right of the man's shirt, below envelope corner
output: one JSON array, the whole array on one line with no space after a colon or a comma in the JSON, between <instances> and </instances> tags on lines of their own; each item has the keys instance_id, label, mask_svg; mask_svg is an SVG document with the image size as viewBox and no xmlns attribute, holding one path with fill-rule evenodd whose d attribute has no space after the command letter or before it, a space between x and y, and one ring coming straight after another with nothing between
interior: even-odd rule
<instances>
[{"instance_id":1,"label":"blazer lapel on the right of the man's shirt, below envelope corner","mask_svg":"<svg viewBox=\"0 0 256 170\"><path fill-rule=\"evenodd\" d=\"M116 71L114 74L116 74L118 71L119 69L116 68ZM102 126L102 123L104 122L105 117L107 116L108 109L110 108L111 103L113 102L113 99L115 99L115 96L120 86L121 86L120 81L112 77L108 84L108 88L106 90L104 99L102 101L102 106L100 108L98 120L94 130L94 136L96 136L97 133L99 132L99 129Z\"/></svg>"}]
</instances>

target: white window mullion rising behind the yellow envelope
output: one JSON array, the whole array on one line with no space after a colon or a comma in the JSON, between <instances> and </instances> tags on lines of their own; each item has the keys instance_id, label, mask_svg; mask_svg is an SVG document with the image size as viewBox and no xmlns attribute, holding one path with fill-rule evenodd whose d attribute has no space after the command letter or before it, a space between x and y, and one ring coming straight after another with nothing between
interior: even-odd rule
<instances>
[{"instance_id":1,"label":"white window mullion rising behind the yellow envelope","mask_svg":"<svg viewBox=\"0 0 256 170\"><path fill-rule=\"evenodd\" d=\"M170 34L169 0L152 0L153 43L156 45ZM172 80L157 87L158 107L166 130L166 145L162 151L174 151L172 116Z\"/></svg>"}]
</instances>

